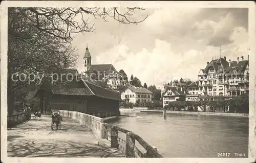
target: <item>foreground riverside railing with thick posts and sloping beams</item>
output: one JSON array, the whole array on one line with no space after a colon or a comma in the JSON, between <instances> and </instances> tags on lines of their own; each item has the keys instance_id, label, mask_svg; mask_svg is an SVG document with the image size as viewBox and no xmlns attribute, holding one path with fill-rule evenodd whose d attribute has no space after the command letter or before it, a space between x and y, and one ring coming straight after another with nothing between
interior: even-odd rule
<instances>
[{"instance_id":1,"label":"foreground riverside railing with thick posts and sloping beams","mask_svg":"<svg viewBox=\"0 0 256 163\"><path fill-rule=\"evenodd\" d=\"M125 157L163 157L157 152L156 148L148 145L139 135L129 130L106 123L104 123L103 126L103 138L106 138L111 142L112 148L121 149L121 151L125 154ZM125 140L124 138L119 137L118 131L125 134ZM146 151L142 152L137 146L135 146L135 141L137 141Z\"/></svg>"}]
</instances>

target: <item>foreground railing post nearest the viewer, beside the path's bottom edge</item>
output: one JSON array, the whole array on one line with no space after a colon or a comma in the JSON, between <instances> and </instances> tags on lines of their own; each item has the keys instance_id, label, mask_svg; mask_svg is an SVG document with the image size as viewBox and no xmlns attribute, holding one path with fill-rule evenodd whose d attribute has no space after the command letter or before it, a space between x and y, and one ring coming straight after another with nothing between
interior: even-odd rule
<instances>
[{"instance_id":1,"label":"foreground railing post nearest the viewer, beside the path's bottom edge","mask_svg":"<svg viewBox=\"0 0 256 163\"><path fill-rule=\"evenodd\" d=\"M135 139L132 138L132 132L126 133L126 141L125 141L125 157L135 157Z\"/></svg>"}]
</instances>

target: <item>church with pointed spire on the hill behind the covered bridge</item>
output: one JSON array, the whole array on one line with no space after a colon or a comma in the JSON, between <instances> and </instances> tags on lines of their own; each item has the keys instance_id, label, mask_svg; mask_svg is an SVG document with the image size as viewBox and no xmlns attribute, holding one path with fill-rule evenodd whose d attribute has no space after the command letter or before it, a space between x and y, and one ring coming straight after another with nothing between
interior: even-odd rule
<instances>
[{"instance_id":1,"label":"church with pointed spire on the hill behind the covered bridge","mask_svg":"<svg viewBox=\"0 0 256 163\"><path fill-rule=\"evenodd\" d=\"M92 57L88 48L84 53L82 60L83 79L86 81L105 81L111 89L117 89L123 84L123 76L120 74L113 64L92 64Z\"/></svg>"}]
</instances>

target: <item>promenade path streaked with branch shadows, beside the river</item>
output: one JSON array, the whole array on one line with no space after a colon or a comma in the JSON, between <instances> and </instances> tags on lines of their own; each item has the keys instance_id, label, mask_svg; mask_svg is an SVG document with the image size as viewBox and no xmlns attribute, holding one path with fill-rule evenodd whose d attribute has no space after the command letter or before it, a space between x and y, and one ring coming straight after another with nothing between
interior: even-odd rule
<instances>
[{"instance_id":1,"label":"promenade path streaked with branch shadows, beside the river","mask_svg":"<svg viewBox=\"0 0 256 163\"><path fill-rule=\"evenodd\" d=\"M125 157L72 119L63 118L61 130L52 131L51 116L42 115L7 132L8 157Z\"/></svg>"}]
</instances>

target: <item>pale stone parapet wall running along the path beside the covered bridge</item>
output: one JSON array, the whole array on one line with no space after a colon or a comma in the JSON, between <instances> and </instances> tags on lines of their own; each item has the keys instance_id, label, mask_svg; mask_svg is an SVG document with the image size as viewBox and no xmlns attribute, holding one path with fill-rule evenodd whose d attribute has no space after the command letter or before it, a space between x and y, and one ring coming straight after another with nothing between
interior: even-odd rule
<instances>
[{"instance_id":1,"label":"pale stone parapet wall running along the path beside the covered bridge","mask_svg":"<svg viewBox=\"0 0 256 163\"><path fill-rule=\"evenodd\" d=\"M104 138L104 120L102 118L95 117L86 113L69 110L59 110L59 114L62 115L62 117L72 118L76 120L80 123L81 126L88 128L97 137Z\"/></svg>"}]
</instances>

